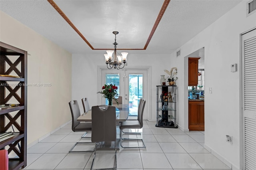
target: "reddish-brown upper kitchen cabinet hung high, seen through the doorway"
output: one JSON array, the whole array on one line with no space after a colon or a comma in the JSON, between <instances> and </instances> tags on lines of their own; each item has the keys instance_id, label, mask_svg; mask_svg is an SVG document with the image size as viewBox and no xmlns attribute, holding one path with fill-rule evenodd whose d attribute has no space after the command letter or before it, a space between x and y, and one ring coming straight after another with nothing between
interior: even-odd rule
<instances>
[{"instance_id":1,"label":"reddish-brown upper kitchen cabinet hung high, seen through the doorway","mask_svg":"<svg viewBox=\"0 0 256 170\"><path fill-rule=\"evenodd\" d=\"M198 59L188 58L188 86L198 85Z\"/></svg>"}]
</instances>

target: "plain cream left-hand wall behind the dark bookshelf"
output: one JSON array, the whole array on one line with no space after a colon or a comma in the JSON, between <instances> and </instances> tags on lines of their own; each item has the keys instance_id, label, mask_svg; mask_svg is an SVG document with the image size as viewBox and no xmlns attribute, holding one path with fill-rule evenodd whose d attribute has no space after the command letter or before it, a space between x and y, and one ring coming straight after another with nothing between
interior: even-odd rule
<instances>
[{"instance_id":1,"label":"plain cream left-hand wall behind the dark bookshelf","mask_svg":"<svg viewBox=\"0 0 256 170\"><path fill-rule=\"evenodd\" d=\"M71 54L0 12L0 41L28 51L28 145L71 120Z\"/></svg>"}]
</instances>

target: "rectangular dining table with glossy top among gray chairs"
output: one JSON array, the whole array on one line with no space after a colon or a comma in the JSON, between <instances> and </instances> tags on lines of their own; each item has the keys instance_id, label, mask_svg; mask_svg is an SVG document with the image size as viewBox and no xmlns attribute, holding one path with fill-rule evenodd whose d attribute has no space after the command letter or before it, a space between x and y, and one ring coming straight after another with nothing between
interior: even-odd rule
<instances>
[{"instance_id":1,"label":"rectangular dining table with glossy top among gray chairs","mask_svg":"<svg viewBox=\"0 0 256 170\"><path fill-rule=\"evenodd\" d=\"M116 123L118 125L119 122L124 122L127 120L129 116L129 105L112 105L116 107ZM107 109L107 105L100 105L102 109ZM79 122L92 122L92 109L83 113L80 117L76 119ZM119 127L118 127L119 128ZM116 130L116 132L120 132L120 130ZM113 142L100 142L100 147L96 148L96 150L119 150L120 146L120 138L119 134L116 134L116 146Z\"/></svg>"}]
</instances>

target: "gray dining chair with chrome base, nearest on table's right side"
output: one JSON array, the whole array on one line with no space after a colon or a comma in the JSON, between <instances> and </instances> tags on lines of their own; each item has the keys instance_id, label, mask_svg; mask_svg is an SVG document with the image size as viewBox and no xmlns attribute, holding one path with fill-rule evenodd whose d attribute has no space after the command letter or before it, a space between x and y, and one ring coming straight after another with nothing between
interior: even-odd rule
<instances>
[{"instance_id":1,"label":"gray dining chair with chrome base, nearest on table's right side","mask_svg":"<svg viewBox=\"0 0 256 170\"><path fill-rule=\"evenodd\" d=\"M146 104L146 100L142 99L141 104L138 108L138 120L127 120L124 122L121 122L119 125L120 128L120 146L122 148L146 148L146 145L144 143L144 140L141 138L122 138L122 133L124 134L142 134L140 132L124 132L124 129L130 129L130 128L142 128L143 127L143 112L144 112L144 107ZM122 140L137 140L137 141L142 141L142 146L123 146L122 145Z\"/></svg>"}]
</instances>

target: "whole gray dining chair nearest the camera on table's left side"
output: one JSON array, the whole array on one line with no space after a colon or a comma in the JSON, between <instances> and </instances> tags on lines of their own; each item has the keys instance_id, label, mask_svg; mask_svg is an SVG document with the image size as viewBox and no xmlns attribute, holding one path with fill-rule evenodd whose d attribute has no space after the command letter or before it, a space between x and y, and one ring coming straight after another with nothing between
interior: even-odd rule
<instances>
[{"instance_id":1,"label":"whole gray dining chair nearest the camera on table's left side","mask_svg":"<svg viewBox=\"0 0 256 170\"><path fill-rule=\"evenodd\" d=\"M73 132L88 132L92 131L92 123L91 122L79 122L77 118L80 117L80 109L78 102L76 100L72 100L69 103L71 115L72 115L72 130ZM92 142L76 142L74 146L69 150L69 152L93 152L93 150L84 150L84 151L74 151L74 147L77 144L93 144Z\"/></svg>"}]
</instances>

